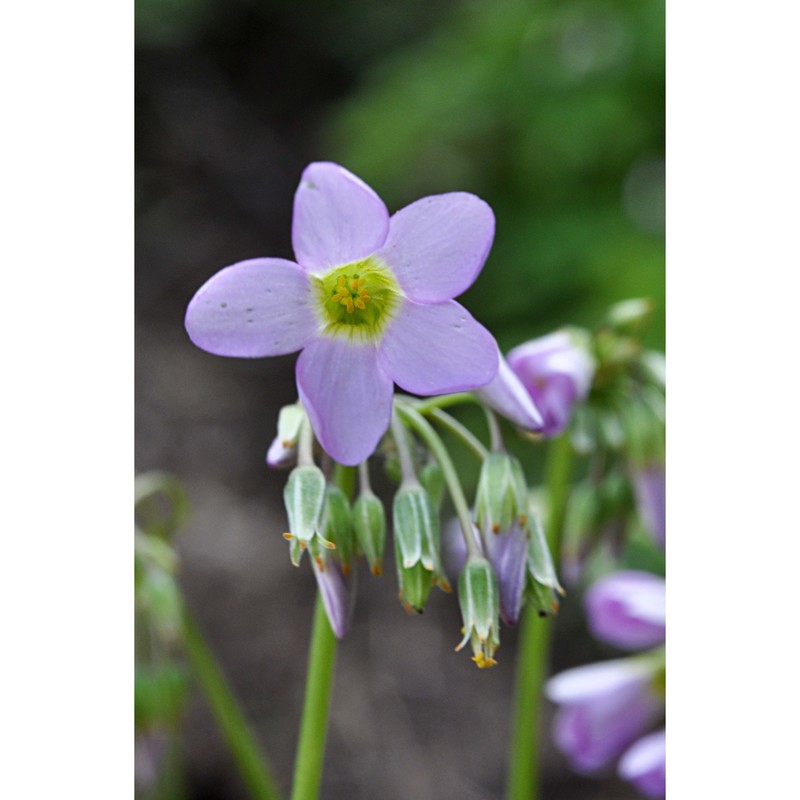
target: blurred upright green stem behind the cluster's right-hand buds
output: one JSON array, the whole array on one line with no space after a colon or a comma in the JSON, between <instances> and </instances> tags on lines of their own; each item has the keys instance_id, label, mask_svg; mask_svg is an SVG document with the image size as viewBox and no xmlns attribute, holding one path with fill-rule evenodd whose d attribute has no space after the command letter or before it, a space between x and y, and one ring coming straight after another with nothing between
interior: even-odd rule
<instances>
[{"instance_id":1,"label":"blurred upright green stem behind the cluster's right-hand buds","mask_svg":"<svg viewBox=\"0 0 800 800\"><path fill-rule=\"evenodd\" d=\"M558 569L561 533L569 498L572 447L562 435L550 444L547 458L548 544ZM508 773L509 800L537 800L541 784L542 687L547 677L552 624L539 619L528 606L522 614L514 689L514 720L511 734L511 763Z\"/></svg>"}]
</instances>

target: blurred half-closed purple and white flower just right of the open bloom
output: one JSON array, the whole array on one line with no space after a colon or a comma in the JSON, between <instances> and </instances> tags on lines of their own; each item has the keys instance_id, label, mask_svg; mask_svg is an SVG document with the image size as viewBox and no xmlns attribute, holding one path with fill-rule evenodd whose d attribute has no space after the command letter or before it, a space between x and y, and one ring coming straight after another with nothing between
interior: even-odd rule
<instances>
[{"instance_id":1,"label":"blurred half-closed purple and white flower just right of the open bloom","mask_svg":"<svg viewBox=\"0 0 800 800\"><path fill-rule=\"evenodd\" d=\"M543 436L561 433L573 406L589 393L594 362L575 337L557 331L515 347L506 356L544 418Z\"/></svg>"}]
</instances>

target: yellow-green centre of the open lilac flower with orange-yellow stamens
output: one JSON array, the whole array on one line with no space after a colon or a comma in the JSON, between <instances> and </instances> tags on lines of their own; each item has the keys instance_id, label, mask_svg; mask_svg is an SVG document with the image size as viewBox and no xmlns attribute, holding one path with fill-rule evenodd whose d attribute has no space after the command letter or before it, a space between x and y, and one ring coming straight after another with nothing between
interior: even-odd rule
<instances>
[{"instance_id":1,"label":"yellow-green centre of the open lilac flower with orange-yellow stamens","mask_svg":"<svg viewBox=\"0 0 800 800\"><path fill-rule=\"evenodd\" d=\"M328 336L380 339L403 298L394 275L374 257L334 267L314 280L318 315Z\"/></svg>"}]
</instances>

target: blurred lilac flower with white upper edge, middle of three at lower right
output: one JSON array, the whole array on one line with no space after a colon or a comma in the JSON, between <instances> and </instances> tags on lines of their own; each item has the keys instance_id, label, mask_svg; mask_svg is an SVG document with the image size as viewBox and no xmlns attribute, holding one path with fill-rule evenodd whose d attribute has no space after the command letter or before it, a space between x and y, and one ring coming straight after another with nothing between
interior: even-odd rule
<instances>
[{"instance_id":1,"label":"blurred lilac flower with white upper edge, middle of three at lower right","mask_svg":"<svg viewBox=\"0 0 800 800\"><path fill-rule=\"evenodd\" d=\"M560 706L555 742L574 769L601 769L656 722L664 710L657 677L657 663L637 656L576 667L547 682L547 697Z\"/></svg>"}]
</instances>

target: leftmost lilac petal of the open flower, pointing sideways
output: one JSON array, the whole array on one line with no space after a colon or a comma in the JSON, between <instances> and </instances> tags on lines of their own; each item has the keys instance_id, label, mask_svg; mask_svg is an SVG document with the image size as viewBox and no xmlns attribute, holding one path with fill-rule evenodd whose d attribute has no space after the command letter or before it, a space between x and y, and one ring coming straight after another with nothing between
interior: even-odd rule
<instances>
[{"instance_id":1,"label":"leftmost lilac petal of the open flower, pointing sideways","mask_svg":"<svg viewBox=\"0 0 800 800\"><path fill-rule=\"evenodd\" d=\"M263 358L300 350L316 335L309 281L292 261L253 258L220 270L186 309L186 331L218 356Z\"/></svg>"}]
</instances>

